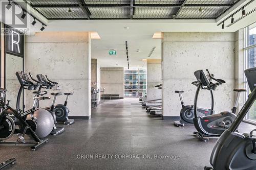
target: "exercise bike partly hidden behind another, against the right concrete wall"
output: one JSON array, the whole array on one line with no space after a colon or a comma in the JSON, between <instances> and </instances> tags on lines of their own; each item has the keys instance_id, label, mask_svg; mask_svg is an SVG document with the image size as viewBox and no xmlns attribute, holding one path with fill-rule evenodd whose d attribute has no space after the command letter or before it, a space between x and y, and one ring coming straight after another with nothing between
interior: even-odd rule
<instances>
[{"instance_id":1,"label":"exercise bike partly hidden behind another, against the right concrete wall","mask_svg":"<svg viewBox=\"0 0 256 170\"><path fill-rule=\"evenodd\" d=\"M213 75L211 75L213 76ZM192 82L193 85L198 86L199 83L198 81ZM204 108L197 108L197 114L200 117L204 117L207 115L211 115L214 114L214 94L212 93L212 88L208 88L208 90L210 91L210 96L211 96L211 108L210 109L204 109ZM193 105L186 105L183 102L183 98L182 98L182 93L184 91L175 91L175 93L179 94L180 97L180 102L181 102L181 106L182 109L180 110L180 120L178 121L174 121L174 125L177 127L182 127L185 125L193 125L193 118L194 116L194 106Z\"/></svg>"}]
</instances>

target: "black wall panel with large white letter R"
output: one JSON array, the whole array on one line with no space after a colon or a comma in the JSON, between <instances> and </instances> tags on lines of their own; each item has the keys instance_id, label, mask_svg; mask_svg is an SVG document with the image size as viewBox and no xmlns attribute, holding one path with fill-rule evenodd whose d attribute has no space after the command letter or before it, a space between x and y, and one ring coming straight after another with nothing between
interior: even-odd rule
<instances>
[{"instance_id":1,"label":"black wall panel with large white letter R","mask_svg":"<svg viewBox=\"0 0 256 170\"><path fill-rule=\"evenodd\" d=\"M24 34L11 27L5 27L5 51L12 55L24 57Z\"/></svg>"}]
</instances>

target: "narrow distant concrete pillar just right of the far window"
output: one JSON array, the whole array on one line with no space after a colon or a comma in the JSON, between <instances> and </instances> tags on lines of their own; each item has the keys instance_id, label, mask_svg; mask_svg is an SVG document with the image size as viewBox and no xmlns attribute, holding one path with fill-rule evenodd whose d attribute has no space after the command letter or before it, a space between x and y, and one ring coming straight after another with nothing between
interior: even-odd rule
<instances>
[{"instance_id":1,"label":"narrow distant concrete pillar just right of the far window","mask_svg":"<svg viewBox=\"0 0 256 170\"><path fill-rule=\"evenodd\" d=\"M162 98L162 90L155 87L161 83L161 60L147 60L147 100Z\"/></svg>"}]
</instances>

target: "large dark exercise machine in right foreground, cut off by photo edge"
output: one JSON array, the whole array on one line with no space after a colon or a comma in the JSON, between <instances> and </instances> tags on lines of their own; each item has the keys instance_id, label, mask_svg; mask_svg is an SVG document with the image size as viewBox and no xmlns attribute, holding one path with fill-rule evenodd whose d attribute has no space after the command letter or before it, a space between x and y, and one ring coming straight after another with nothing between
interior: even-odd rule
<instances>
[{"instance_id":1,"label":"large dark exercise machine in right foreground, cut off by photo edge","mask_svg":"<svg viewBox=\"0 0 256 170\"><path fill-rule=\"evenodd\" d=\"M256 135L236 132L256 100L256 67L246 69L245 76L252 91L230 127L222 133L210 156L210 166L205 170L253 170L256 167Z\"/></svg>"}]
</instances>

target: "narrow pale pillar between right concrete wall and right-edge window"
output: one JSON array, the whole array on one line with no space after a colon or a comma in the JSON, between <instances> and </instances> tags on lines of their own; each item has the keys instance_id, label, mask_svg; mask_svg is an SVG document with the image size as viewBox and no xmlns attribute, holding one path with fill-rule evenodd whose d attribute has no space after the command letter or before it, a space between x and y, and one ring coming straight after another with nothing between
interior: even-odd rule
<instances>
[{"instance_id":1,"label":"narrow pale pillar between right concrete wall and right-edge window","mask_svg":"<svg viewBox=\"0 0 256 170\"><path fill-rule=\"evenodd\" d=\"M235 63L234 63L234 78L236 88L245 88L244 84L244 29L240 29L235 33ZM241 93L239 106L240 110L246 100L245 92Z\"/></svg>"}]
</instances>

